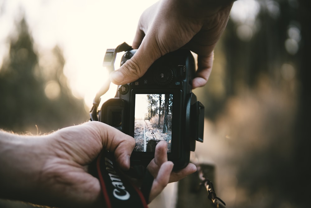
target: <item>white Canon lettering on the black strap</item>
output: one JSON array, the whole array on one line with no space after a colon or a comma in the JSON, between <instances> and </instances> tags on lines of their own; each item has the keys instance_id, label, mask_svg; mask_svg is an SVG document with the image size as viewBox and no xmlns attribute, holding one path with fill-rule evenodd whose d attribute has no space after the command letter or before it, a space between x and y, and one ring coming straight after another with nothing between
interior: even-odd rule
<instances>
[{"instance_id":1,"label":"white Canon lettering on the black strap","mask_svg":"<svg viewBox=\"0 0 311 208\"><path fill-rule=\"evenodd\" d=\"M112 185L115 187L113 190L113 195L115 198L119 200L128 200L130 198L130 194L125 190L123 182L117 172L114 170L114 164L111 160L105 157L105 165L106 170L109 172L109 177L112 182Z\"/></svg>"}]
</instances>

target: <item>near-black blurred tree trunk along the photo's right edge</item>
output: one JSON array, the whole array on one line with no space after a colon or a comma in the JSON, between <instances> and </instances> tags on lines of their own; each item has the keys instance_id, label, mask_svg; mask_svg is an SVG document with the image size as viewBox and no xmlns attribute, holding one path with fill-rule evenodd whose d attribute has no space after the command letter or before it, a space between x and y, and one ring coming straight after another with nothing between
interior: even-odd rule
<instances>
[{"instance_id":1,"label":"near-black blurred tree trunk along the photo's right edge","mask_svg":"<svg viewBox=\"0 0 311 208\"><path fill-rule=\"evenodd\" d=\"M301 50L299 51L299 80L301 83L299 91L298 114L296 117L296 126L294 138L297 140L295 146L295 192L294 197L301 200L302 206L309 206L308 200L311 194L310 186L310 118L311 118L311 2L299 0L299 22L301 24ZM300 201L300 200L299 200ZM302 207L301 206L301 207Z\"/></svg>"}]
</instances>

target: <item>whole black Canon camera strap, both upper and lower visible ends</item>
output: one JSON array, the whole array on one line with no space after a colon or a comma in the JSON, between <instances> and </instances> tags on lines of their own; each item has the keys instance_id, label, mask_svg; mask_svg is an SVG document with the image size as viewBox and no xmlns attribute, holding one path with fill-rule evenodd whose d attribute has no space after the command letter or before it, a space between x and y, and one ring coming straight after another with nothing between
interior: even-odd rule
<instances>
[{"instance_id":1,"label":"whole black Canon camera strap, both upper and lower visible ends","mask_svg":"<svg viewBox=\"0 0 311 208\"><path fill-rule=\"evenodd\" d=\"M130 51L132 46L126 42L118 45L115 49L107 49L103 66L110 72L114 71L114 62L118 52ZM102 88L97 92L93 107L90 111L91 121L98 121L97 108L100 104L100 97L104 95L110 86L110 80L104 82ZM149 195L154 181L151 173L143 166L134 166L126 173L130 177L142 179L142 187L139 189L135 184L124 176L115 166L114 155L103 150L96 160L96 170L107 208L137 207L148 208Z\"/></svg>"}]
</instances>

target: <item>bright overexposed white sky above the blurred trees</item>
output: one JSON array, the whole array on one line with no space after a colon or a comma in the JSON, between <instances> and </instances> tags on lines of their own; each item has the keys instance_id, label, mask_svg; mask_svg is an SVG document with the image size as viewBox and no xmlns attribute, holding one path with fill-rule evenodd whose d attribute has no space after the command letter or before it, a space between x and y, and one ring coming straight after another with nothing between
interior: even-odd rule
<instances>
[{"instance_id":1,"label":"bright overexposed white sky above the blurred trees","mask_svg":"<svg viewBox=\"0 0 311 208\"><path fill-rule=\"evenodd\" d=\"M76 97L91 106L108 72L102 66L107 48L132 44L141 13L156 0L0 0L0 66L8 52L7 37L25 13L38 51L57 44L66 60L64 74ZM249 5L245 8L245 3ZM239 21L256 12L256 1L239 0L232 9ZM244 5L244 6L243 6ZM245 12L248 11L248 12ZM240 15L239 15L240 14ZM116 60L118 63L118 60ZM114 97L111 86L102 100Z\"/></svg>"}]
</instances>

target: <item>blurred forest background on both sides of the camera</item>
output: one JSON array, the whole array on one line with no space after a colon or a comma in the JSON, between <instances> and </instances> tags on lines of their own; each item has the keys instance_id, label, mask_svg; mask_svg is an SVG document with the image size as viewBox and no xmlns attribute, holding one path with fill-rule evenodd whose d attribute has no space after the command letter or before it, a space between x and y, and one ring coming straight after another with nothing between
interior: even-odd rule
<instances>
[{"instance_id":1,"label":"blurred forest background on both sides of the camera","mask_svg":"<svg viewBox=\"0 0 311 208\"><path fill-rule=\"evenodd\" d=\"M215 164L216 193L226 207L308 207L311 2L253 2L253 19L231 15L210 80L194 90L206 112L196 155ZM67 85L61 47L39 54L25 19L8 43L0 128L47 133L88 119L84 101Z\"/></svg>"}]
</instances>

